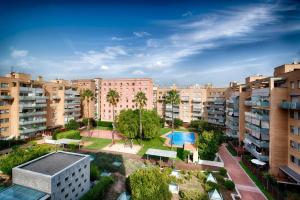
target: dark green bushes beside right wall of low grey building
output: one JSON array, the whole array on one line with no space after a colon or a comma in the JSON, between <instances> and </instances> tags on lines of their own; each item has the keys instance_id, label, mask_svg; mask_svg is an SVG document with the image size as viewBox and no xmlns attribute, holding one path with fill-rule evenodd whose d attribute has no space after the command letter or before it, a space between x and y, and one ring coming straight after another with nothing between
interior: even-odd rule
<instances>
[{"instance_id":1,"label":"dark green bushes beside right wall of low grey building","mask_svg":"<svg viewBox=\"0 0 300 200\"><path fill-rule=\"evenodd\" d=\"M107 189L113 184L114 180L111 177L102 177L99 182L90 189L81 200L98 200L102 199Z\"/></svg>"}]
</instances>

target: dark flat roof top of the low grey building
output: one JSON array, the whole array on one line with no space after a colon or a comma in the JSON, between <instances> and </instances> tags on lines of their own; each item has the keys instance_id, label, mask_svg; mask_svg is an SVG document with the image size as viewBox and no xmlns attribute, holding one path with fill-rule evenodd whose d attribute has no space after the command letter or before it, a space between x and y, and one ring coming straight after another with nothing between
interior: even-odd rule
<instances>
[{"instance_id":1,"label":"dark flat roof top of the low grey building","mask_svg":"<svg viewBox=\"0 0 300 200\"><path fill-rule=\"evenodd\" d=\"M86 156L59 151L25 163L24 165L19 166L19 168L46 175L54 175L84 157Z\"/></svg>"}]
</instances>

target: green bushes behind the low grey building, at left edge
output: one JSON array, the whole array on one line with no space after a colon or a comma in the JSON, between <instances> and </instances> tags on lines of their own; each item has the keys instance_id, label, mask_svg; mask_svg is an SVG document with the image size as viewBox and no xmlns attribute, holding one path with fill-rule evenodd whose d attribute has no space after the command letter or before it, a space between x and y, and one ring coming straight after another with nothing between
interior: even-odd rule
<instances>
[{"instance_id":1,"label":"green bushes behind the low grey building, at left edge","mask_svg":"<svg viewBox=\"0 0 300 200\"><path fill-rule=\"evenodd\" d=\"M17 148L11 153L0 157L0 170L4 174L11 175L12 168L49 152L50 148L45 146L32 146L26 149Z\"/></svg>"}]
</instances>

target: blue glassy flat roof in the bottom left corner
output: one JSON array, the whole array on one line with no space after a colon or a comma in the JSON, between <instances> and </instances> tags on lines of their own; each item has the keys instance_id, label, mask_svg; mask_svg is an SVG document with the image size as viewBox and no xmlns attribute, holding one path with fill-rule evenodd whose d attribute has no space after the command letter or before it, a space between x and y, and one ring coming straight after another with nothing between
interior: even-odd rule
<instances>
[{"instance_id":1,"label":"blue glassy flat roof in the bottom left corner","mask_svg":"<svg viewBox=\"0 0 300 200\"><path fill-rule=\"evenodd\" d=\"M45 196L49 195L21 185L12 185L0 191L1 200L39 200Z\"/></svg>"}]
</instances>

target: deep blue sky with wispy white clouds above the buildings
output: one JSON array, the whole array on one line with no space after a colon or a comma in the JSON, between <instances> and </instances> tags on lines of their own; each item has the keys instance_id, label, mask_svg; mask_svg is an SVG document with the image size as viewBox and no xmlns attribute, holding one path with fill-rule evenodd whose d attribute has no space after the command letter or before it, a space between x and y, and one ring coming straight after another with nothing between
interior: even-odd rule
<instances>
[{"instance_id":1,"label":"deep blue sky with wispy white clouds above the buildings","mask_svg":"<svg viewBox=\"0 0 300 200\"><path fill-rule=\"evenodd\" d=\"M297 1L0 3L1 74L226 86L294 60Z\"/></svg>"}]
</instances>

